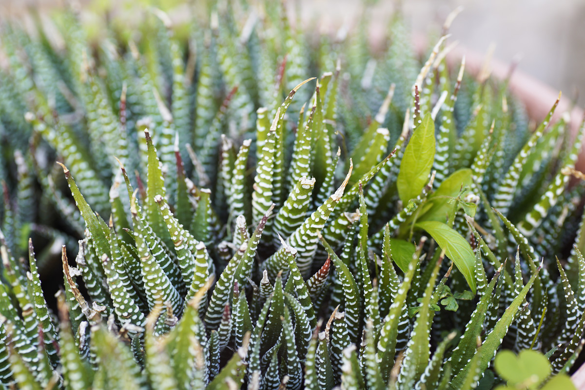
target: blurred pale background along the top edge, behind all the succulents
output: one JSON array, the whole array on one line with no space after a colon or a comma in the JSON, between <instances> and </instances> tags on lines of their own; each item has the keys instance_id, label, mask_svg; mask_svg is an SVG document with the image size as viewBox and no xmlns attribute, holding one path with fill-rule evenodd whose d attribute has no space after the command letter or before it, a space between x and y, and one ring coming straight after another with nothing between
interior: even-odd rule
<instances>
[{"instance_id":1,"label":"blurred pale background along the top edge, behind all the succulents","mask_svg":"<svg viewBox=\"0 0 585 390\"><path fill-rule=\"evenodd\" d=\"M276 0L278 1L278 0ZM90 8L113 4L112 0L75 0ZM123 4L123 0L116 4ZM197 0L194 0L197 4ZM253 1L252 1L253 2ZM359 12L359 0L289 0L299 2L303 19L322 19L324 29L351 25ZM26 8L51 8L64 0L0 0L0 15L23 15ZM173 0L144 1L165 8ZM509 64L520 58L518 70L544 82L567 98L585 105L585 1L583 0L379 0L371 29L384 29L388 16L401 8L414 31L421 36L439 31L450 11L463 6L450 29L458 51L484 54L494 44L493 58ZM123 5L122 5L123 7Z\"/></svg>"}]
</instances>

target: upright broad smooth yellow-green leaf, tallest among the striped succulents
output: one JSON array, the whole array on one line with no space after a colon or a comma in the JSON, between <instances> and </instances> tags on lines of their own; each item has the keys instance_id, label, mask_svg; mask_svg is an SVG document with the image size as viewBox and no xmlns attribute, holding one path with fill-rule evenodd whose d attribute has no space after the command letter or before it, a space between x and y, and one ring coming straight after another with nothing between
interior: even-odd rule
<instances>
[{"instance_id":1,"label":"upright broad smooth yellow-green leaf, tallest among the striped succulents","mask_svg":"<svg viewBox=\"0 0 585 390\"><path fill-rule=\"evenodd\" d=\"M404 150L398 173L398 196L402 203L416 198L428 182L435 158L435 123L426 115Z\"/></svg>"}]
</instances>

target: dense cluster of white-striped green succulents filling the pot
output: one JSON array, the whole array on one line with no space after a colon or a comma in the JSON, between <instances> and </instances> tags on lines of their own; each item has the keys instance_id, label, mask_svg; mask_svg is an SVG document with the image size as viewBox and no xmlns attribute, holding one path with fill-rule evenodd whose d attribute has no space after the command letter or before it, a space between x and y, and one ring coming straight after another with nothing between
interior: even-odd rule
<instances>
[{"instance_id":1,"label":"dense cluster of white-striped green succulents filling the pot","mask_svg":"<svg viewBox=\"0 0 585 390\"><path fill-rule=\"evenodd\" d=\"M232 3L183 35L158 9L97 42L71 9L2 25L0 388L567 388L583 132L558 101L532 129L401 18L370 51L369 6L334 38Z\"/></svg>"}]
</instances>

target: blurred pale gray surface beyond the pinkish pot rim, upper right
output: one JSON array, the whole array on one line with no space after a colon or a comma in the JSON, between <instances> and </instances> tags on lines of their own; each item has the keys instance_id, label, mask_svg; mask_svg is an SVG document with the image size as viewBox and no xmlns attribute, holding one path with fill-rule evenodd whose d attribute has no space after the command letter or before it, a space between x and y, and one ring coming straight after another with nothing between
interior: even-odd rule
<instances>
[{"instance_id":1,"label":"blurred pale gray surface beyond the pinkish pot rim, upper right","mask_svg":"<svg viewBox=\"0 0 585 390\"><path fill-rule=\"evenodd\" d=\"M442 20L449 9L464 10L453 22L453 39L484 52L495 43L494 58L510 62L521 54L519 69L585 102L585 2L580 0L414 0L405 2L412 26ZM424 18L419 9L432 9Z\"/></svg>"}]
</instances>

